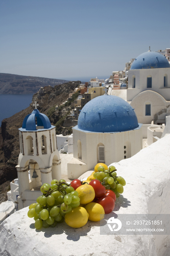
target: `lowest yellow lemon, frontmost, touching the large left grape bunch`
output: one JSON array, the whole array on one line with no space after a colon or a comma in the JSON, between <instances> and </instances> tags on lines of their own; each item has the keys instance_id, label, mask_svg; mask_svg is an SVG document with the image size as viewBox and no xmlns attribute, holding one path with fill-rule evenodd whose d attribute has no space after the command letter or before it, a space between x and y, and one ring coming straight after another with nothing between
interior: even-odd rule
<instances>
[{"instance_id":1,"label":"lowest yellow lemon, frontmost, touching the large left grape bunch","mask_svg":"<svg viewBox=\"0 0 170 256\"><path fill-rule=\"evenodd\" d=\"M70 227L78 228L84 226L88 222L89 214L84 207L73 208L72 211L66 213L65 222Z\"/></svg>"}]
</instances>

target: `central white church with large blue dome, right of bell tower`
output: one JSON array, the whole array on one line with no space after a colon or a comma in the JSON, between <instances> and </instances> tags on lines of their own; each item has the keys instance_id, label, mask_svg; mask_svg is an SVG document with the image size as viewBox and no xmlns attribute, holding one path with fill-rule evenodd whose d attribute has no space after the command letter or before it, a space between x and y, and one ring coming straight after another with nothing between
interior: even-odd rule
<instances>
[{"instance_id":1,"label":"central white church with large blue dome, right of bell tower","mask_svg":"<svg viewBox=\"0 0 170 256\"><path fill-rule=\"evenodd\" d=\"M73 127L73 159L68 177L78 178L96 163L110 165L142 149L142 124L124 99L102 95L86 103Z\"/></svg>"}]
</instances>

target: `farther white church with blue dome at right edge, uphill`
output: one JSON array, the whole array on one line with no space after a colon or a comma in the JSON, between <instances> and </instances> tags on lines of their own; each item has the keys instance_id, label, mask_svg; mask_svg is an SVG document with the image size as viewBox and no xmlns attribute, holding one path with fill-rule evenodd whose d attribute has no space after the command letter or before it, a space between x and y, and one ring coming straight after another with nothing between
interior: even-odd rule
<instances>
[{"instance_id":1,"label":"farther white church with blue dome at right edge, uphill","mask_svg":"<svg viewBox=\"0 0 170 256\"><path fill-rule=\"evenodd\" d=\"M127 102L143 124L166 123L170 115L170 64L158 52L140 54L128 71Z\"/></svg>"}]
</instances>

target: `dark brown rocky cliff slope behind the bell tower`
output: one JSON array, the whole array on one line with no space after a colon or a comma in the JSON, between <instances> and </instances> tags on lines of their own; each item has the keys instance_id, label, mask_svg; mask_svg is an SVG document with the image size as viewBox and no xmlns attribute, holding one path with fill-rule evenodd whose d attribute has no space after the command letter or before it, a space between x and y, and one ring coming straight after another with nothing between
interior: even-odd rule
<instances>
[{"instance_id":1,"label":"dark brown rocky cliff slope behind the bell tower","mask_svg":"<svg viewBox=\"0 0 170 256\"><path fill-rule=\"evenodd\" d=\"M17 177L15 166L18 163L20 152L18 128L22 127L24 117L34 110L32 104L35 101L39 104L38 110L46 114L52 124L57 125L56 132L58 134L67 135L72 133L71 127L62 127L71 107L68 104L65 104L65 106L59 105L69 97L70 90L74 90L80 83L80 81L77 81L55 87L44 87L33 95L32 103L28 108L2 121L0 128L0 184ZM55 110L56 105L59 106L57 110Z\"/></svg>"}]
</instances>

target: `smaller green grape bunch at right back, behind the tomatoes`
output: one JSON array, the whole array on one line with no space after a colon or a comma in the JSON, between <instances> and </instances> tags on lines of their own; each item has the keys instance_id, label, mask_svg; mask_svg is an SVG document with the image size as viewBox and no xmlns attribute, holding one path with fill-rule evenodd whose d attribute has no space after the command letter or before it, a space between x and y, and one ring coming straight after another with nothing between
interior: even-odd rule
<instances>
[{"instance_id":1,"label":"smaller green grape bunch at right back, behind the tomatoes","mask_svg":"<svg viewBox=\"0 0 170 256\"><path fill-rule=\"evenodd\" d=\"M123 177L117 176L117 169L111 165L108 170L105 170L103 166L97 168L97 172L93 174L93 177L100 180L106 189L111 189L116 194L116 198L123 193L123 187L126 182Z\"/></svg>"}]
</instances>

